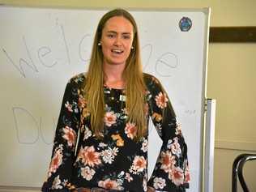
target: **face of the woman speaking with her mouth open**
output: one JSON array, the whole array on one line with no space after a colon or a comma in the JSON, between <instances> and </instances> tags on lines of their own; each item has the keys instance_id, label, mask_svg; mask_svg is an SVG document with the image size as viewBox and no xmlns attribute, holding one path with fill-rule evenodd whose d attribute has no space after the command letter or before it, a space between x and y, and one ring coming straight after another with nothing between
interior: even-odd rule
<instances>
[{"instance_id":1,"label":"face of the woman speaking with her mouth open","mask_svg":"<svg viewBox=\"0 0 256 192\"><path fill-rule=\"evenodd\" d=\"M110 18L100 40L104 65L126 65L133 39L133 25L128 19L122 16Z\"/></svg>"}]
</instances>

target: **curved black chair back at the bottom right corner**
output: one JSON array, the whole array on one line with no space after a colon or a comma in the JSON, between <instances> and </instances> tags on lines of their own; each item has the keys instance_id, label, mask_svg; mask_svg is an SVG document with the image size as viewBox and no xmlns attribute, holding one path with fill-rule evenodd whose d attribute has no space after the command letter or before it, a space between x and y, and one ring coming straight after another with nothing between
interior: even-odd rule
<instances>
[{"instance_id":1,"label":"curved black chair back at the bottom right corner","mask_svg":"<svg viewBox=\"0 0 256 192\"><path fill-rule=\"evenodd\" d=\"M244 190L244 192L249 192L243 176L243 167L245 162L248 160L256 160L256 154L241 154L234 160L232 172L232 192L237 192L237 176L240 181L241 188Z\"/></svg>"}]
</instances>

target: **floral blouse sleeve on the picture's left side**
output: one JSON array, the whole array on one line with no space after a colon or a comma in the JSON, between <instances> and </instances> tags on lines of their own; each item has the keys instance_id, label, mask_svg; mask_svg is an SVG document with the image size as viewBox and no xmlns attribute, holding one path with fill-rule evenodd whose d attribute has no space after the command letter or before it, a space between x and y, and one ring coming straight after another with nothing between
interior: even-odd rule
<instances>
[{"instance_id":1,"label":"floral blouse sleeve on the picture's left side","mask_svg":"<svg viewBox=\"0 0 256 192\"><path fill-rule=\"evenodd\" d=\"M53 151L43 192L64 192L75 188L71 184L75 145L79 130L79 89L75 78L66 84L58 125L53 141Z\"/></svg>"}]
</instances>

